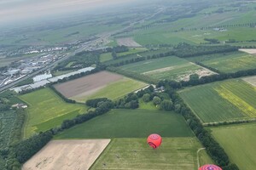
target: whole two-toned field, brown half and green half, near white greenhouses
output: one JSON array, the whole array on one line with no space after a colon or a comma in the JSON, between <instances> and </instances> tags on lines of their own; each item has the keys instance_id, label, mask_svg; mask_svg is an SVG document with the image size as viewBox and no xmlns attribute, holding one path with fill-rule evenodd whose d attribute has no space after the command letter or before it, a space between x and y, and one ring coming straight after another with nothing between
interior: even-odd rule
<instances>
[{"instance_id":1,"label":"whole two-toned field, brown half and green half, near white greenhouses","mask_svg":"<svg viewBox=\"0 0 256 170\"><path fill-rule=\"evenodd\" d=\"M84 103L86 99L118 99L145 86L147 84L144 82L102 71L70 82L57 84L55 88L67 98Z\"/></svg>"}]
</instances>

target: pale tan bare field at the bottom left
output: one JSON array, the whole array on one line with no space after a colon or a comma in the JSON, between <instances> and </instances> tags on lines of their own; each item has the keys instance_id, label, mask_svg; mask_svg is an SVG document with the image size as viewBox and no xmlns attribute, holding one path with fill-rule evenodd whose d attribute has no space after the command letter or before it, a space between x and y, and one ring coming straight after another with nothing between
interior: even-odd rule
<instances>
[{"instance_id":1,"label":"pale tan bare field at the bottom left","mask_svg":"<svg viewBox=\"0 0 256 170\"><path fill-rule=\"evenodd\" d=\"M22 170L89 169L110 139L52 140Z\"/></svg>"}]
</instances>

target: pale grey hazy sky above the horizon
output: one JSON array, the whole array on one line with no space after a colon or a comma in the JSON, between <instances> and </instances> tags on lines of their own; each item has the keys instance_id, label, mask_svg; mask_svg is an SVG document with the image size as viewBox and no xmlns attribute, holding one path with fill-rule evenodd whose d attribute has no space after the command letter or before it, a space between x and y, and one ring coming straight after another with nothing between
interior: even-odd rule
<instances>
[{"instance_id":1,"label":"pale grey hazy sky above the horizon","mask_svg":"<svg viewBox=\"0 0 256 170\"><path fill-rule=\"evenodd\" d=\"M7 21L86 11L125 2L131 2L131 0L0 0L0 25Z\"/></svg>"}]
</instances>

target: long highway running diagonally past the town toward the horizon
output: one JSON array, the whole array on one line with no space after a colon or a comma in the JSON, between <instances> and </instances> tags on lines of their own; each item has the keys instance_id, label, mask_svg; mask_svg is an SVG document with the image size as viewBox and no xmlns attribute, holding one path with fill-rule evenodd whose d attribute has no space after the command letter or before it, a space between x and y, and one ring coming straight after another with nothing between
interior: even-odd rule
<instances>
[{"instance_id":1,"label":"long highway running diagonally past the town toward the horizon","mask_svg":"<svg viewBox=\"0 0 256 170\"><path fill-rule=\"evenodd\" d=\"M160 14L164 10L165 10L165 8L161 7L154 14L152 14L148 17L145 17L142 20L132 22L130 24L130 26L126 26L126 27L121 28L121 29L116 30L116 31L102 33L102 34L98 35L97 36L98 38L96 38L95 40L91 40L90 42L84 42L84 44L81 45L80 48L76 49L73 53L66 54L66 56L64 56L61 59L55 61L54 63L51 63L51 64L45 66L44 68L41 68L38 71L35 71L32 74L27 75L26 77L22 77L22 78L20 78L19 80L15 81L15 82L10 82L9 84L3 86L2 88L0 88L0 93L2 93L4 90L6 90L8 88L14 87L17 83L22 82L22 81L26 80L27 78L34 77L34 76L38 75L40 72L48 70L52 66L60 63L61 61L64 61L64 60L68 59L69 57L71 57L71 56L73 56L73 55L75 55L79 52L86 51L86 50L91 50L91 47L96 46L96 44L99 43L99 42L102 42L102 40L107 39L108 37L111 37L113 34L116 34L116 33L122 32L122 31L126 31L126 30L130 29L132 26L134 26L135 24L141 23L144 20L149 20L150 18L154 17L156 14Z\"/></svg>"}]
</instances>

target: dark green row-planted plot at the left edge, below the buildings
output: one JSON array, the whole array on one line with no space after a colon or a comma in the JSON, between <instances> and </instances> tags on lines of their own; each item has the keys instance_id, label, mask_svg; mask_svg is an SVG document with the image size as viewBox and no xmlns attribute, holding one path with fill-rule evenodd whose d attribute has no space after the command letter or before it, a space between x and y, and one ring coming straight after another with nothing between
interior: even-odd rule
<instances>
[{"instance_id":1,"label":"dark green row-planted plot at the left edge, below the buildings","mask_svg":"<svg viewBox=\"0 0 256 170\"><path fill-rule=\"evenodd\" d=\"M0 111L0 149L5 149L8 146L15 119L15 111Z\"/></svg>"}]
</instances>

